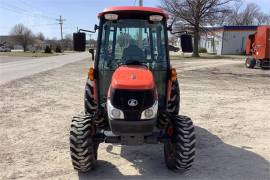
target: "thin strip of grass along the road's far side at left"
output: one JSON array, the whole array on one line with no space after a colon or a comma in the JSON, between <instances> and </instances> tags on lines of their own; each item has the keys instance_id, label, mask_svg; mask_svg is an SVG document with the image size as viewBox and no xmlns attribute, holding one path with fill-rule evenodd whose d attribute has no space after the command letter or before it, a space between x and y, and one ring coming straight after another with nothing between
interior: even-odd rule
<instances>
[{"instance_id":1,"label":"thin strip of grass along the road's far side at left","mask_svg":"<svg viewBox=\"0 0 270 180\"><path fill-rule=\"evenodd\" d=\"M43 52L0 52L0 56L13 56L13 57L50 57L56 56L55 53L43 53Z\"/></svg>"}]
</instances>

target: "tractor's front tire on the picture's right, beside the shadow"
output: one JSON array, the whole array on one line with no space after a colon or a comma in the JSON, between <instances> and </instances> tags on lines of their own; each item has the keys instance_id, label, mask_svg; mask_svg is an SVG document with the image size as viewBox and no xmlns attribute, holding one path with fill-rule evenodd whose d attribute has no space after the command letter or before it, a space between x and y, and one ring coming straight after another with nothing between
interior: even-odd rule
<instances>
[{"instance_id":1,"label":"tractor's front tire on the picture's right, beside the shadow","mask_svg":"<svg viewBox=\"0 0 270 180\"><path fill-rule=\"evenodd\" d=\"M168 169L183 172L188 170L195 157L195 132L189 117L171 116L166 128L170 139L164 144L164 157Z\"/></svg>"}]
</instances>

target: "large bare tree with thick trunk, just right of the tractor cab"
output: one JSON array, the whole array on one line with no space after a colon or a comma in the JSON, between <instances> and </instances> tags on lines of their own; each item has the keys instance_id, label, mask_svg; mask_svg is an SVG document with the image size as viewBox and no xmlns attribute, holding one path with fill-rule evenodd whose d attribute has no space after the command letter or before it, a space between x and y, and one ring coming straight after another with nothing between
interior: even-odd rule
<instances>
[{"instance_id":1,"label":"large bare tree with thick trunk, just right of the tractor cab","mask_svg":"<svg viewBox=\"0 0 270 180\"><path fill-rule=\"evenodd\" d=\"M161 0L161 7L194 36L193 56L199 57L199 33L205 26L217 24L230 12L230 2L235 0Z\"/></svg>"}]
</instances>

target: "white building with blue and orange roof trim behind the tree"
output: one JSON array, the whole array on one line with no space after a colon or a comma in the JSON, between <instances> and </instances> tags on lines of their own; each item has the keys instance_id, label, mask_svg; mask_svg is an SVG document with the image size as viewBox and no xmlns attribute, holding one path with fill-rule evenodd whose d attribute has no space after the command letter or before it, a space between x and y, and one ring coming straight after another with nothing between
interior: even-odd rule
<instances>
[{"instance_id":1,"label":"white building with blue and orange roof trim behind the tree","mask_svg":"<svg viewBox=\"0 0 270 180\"><path fill-rule=\"evenodd\" d=\"M246 40L256 32L257 26L223 26L210 28L201 34L199 46L208 53L218 55L244 54Z\"/></svg>"}]
</instances>

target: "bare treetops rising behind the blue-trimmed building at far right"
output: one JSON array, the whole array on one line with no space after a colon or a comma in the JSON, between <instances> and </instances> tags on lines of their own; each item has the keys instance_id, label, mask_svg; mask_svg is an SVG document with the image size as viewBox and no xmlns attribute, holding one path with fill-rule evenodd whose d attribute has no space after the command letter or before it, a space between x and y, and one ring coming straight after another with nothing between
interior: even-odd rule
<instances>
[{"instance_id":1,"label":"bare treetops rising behind the blue-trimmed building at far right","mask_svg":"<svg viewBox=\"0 0 270 180\"><path fill-rule=\"evenodd\" d=\"M259 6L254 3L238 3L232 9L232 13L227 17L228 25L262 25L270 24L270 15L261 11Z\"/></svg>"}]
</instances>

